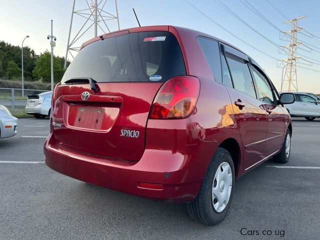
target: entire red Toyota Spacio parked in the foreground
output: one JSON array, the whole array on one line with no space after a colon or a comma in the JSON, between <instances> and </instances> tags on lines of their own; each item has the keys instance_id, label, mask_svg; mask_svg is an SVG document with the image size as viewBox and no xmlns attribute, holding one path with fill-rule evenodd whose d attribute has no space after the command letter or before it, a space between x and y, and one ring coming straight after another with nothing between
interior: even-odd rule
<instances>
[{"instance_id":1,"label":"entire red Toyota Spacio parked in the foreground","mask_svg":"<svg viewBox=\"0 0 320 240\"><path fill-rule=\"evenodd\" d=\"M208 34L175 26L84 42L52 95L45 163L81 181L185 202L221 221L236 178L287 162L292 125L262 68Z\"/></svg>"}]
</instances>

